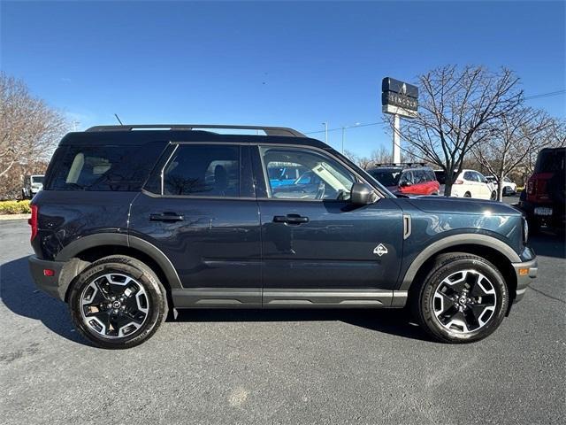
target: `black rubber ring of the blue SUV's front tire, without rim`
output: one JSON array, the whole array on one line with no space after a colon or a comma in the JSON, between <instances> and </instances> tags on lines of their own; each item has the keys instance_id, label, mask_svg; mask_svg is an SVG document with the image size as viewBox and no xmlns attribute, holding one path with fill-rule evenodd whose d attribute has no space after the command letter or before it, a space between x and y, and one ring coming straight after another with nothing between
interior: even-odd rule
<instances>
[{"instance_id":1,"label":"black rubber ring of the blue SUV's front tire, without rim","mask_svg":"<svg viewBox=\"0 0 566 425\"><path fill-rule=\"evenodd\" d=\"M472 269L484 274L493 284L497 301L495 311L489 321L483 327L466 334L460 334L444 328L436 318L433 310L434 292L440 286L440 283L450 274L458 271ZM454 343L466 343L478 341L489 336L499 327L501 321L505 317L509 307L509 290L501 273L493 267L489 262L483 259L456 259L440 266L429 275L424 282L423 290L420 298L420 310L422 319L426 328L432 332L434 336L439 337L443 341Z\"/></svg>"}]
</instances>

